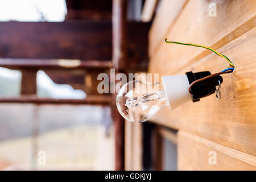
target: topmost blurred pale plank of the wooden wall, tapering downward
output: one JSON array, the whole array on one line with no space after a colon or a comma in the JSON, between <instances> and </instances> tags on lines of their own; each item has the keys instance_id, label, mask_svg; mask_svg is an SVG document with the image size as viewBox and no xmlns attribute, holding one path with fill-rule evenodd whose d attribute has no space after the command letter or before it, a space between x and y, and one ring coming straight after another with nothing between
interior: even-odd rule
<instances>
[{"instance_id":1,"label":"topmost blurred pale plank of the wooden wall, tapering downward","mask_svg":"<svg viewBox=\"0 0 256 182\"><path fill-rule=\"evenodd\" d=\"M175 19L187 2L188 0L162 0L159 2L158 11L156 11L149 32L150 43L148 45L148 54L150 56L154 55L156 47L166 38L168 30L172 27Z\"/></svg>"}]
</instances>

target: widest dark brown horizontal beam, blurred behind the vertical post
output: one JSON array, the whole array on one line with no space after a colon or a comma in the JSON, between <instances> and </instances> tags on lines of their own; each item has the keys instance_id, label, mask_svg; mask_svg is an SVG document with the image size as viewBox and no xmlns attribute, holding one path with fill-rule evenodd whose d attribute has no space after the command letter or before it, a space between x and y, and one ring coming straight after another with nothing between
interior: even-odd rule
<instances>
[{"instance_id":1,"label":"widest dark brown horizontal beam, blurred behind the vertical post","mask_svg":"<svg viewBox=\"0 0 256 182\"><path fill-rule=\"evenodd\" d=\"M128 23L129 41L125 44L131 69L147 69L149 28L150 23ZM42 64L60 68L95 67L90 60L109 64L105 61L112 60L112 21L0 22L0 57L16 61L35 59L37 62L50 59L53 63ZM71 61L74 63L68 63ZM27 63L27 66L36 67L37 62L35 65Z\"/></svg>"}]
</instances>

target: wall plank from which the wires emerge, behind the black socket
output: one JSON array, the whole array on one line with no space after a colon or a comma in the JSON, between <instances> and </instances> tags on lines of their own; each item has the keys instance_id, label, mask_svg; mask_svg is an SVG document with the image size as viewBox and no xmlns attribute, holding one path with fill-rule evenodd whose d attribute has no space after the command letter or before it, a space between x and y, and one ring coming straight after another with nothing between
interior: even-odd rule
<instances>
[{"instance_id":1,"label":"wall plank from which the wires emerge, behind the black socket","mask_svg":"<svg viewBox=\"0 0 256 182\"><path fill-rule=\"evenodd\" d=\"M218 49L236 65L235 73L222 76L221 100L214 94L200 102L189 102L175 110L160 110L152 121L184 129L236 150L256 156L256 28ZM187 71L216 73L225 69L222 57L210 54L189 65ZM171 73L170 73L171 74Z\"/></svg>"}]
</instances>

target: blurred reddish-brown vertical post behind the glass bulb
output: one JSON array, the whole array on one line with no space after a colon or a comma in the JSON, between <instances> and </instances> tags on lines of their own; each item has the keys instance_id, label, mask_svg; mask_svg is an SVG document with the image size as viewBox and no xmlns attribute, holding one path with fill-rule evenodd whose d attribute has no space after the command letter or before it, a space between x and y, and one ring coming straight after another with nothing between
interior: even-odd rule
<instances>
[{"instance_id":1,"label":"blurred reddish-brown vertical post behind the glass bulb","mask_svg":"<svg viewBox=\"0 0 256 182\"><path fill-rule=\"evenodd\" d=\"M125 72L127 67L127 0L113 0L113 68ZM114 83L111 83L114 84ZM115 169L125 169L125 123L112 95L112 117L115 126Z\"/></svg>"}]
</instances>

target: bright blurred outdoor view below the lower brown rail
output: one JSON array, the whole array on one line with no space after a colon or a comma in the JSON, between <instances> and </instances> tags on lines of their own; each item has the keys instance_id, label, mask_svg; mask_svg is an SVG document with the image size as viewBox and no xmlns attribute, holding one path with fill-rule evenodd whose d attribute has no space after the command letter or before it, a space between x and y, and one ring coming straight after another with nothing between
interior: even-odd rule
<instances>
[{"instance_id":1,"label":"bright blurred outdoor view below the lower brown rail","mask_svg":"<svg viewBox=\"0 0 256 182\"><path fill-rule=\"evenodd\" d=\"M2 104L0 120L0 169L114 169L109 107Z\"/></svg>"}]
</instances>

